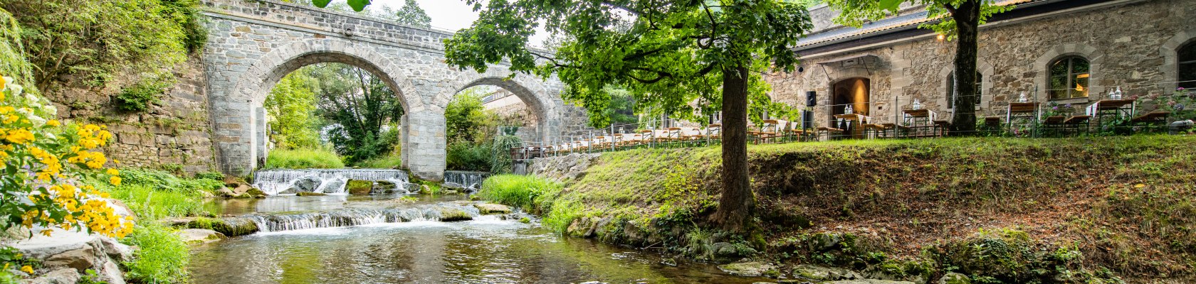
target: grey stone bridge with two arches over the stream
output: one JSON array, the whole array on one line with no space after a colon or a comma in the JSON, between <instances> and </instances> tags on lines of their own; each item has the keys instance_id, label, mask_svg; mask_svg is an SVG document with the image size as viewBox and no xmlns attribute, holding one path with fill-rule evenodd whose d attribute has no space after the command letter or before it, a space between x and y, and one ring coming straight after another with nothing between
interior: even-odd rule
<instances>
[{"instance_id":1,"label":"grey stone bridge with two arches over the stream","mask_svg":"<svg viewBox=\"0 0 1196 284\"><path fill-rule=\"evenodd\" d=\"M563 85L506 66L486 73L445 63L451 32L417 29L359 14L276 0L203 0L208 41L212 140L221 171L244 175L268 152L262 103L274 85L299 67L340 62L382 78L399 95L403 167L425 179L445 171L445 106L462 89L494 85L518 95L538 118L536 136L559 141L562 118L581 111L560 97Z\"/></svg>"}]
</instances>

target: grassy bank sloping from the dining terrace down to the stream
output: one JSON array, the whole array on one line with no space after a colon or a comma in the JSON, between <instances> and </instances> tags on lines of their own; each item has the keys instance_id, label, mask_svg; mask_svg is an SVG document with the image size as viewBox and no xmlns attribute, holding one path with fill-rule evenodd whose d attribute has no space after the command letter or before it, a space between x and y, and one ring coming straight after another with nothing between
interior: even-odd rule
<instances>
[{"instance_id":1,"label":"grassy bank sloping from the dining terrace down to the stream","mask_svg":"<svg viewBox=\"0 0 1196 284\"><path fill-rule=\"evenodd\" d=\"M1191 279L1194 144L1134 136L750 147L764 233L743 242L777 257L806 253L793 242L810 234L849 233L869 239L869 251L919 259L977 231L1014 229L1129 279ZM604 154L566 181L549 217L575 220L573 235L692 251L695 239L710 239L700 228L715 206L718 160L716 148Z\"/></svg>"}]
</instances>

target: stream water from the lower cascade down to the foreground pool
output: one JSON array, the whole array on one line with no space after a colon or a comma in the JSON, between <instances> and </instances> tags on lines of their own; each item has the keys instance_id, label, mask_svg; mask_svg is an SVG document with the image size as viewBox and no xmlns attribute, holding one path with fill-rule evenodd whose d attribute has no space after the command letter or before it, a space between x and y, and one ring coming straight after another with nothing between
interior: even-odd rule
<instances>
[{"instance_id":1,"label":"stream water from the lower cascade down to the foreground pool","mask_svg":"<svg viewBox=\"0 0 1196 284\"><path fill-rule=\"evenodd\" d=\"M271 196L214 203L263 231L195 248L195 283L753 283L713 265L661 264L652 249L557 236L523 214L402 196ZM310 199L310 200L305 200ZM398 204L398 205L396 205ZM440 222L445 210L470 221Z\"/></svg>"}]
</instances>

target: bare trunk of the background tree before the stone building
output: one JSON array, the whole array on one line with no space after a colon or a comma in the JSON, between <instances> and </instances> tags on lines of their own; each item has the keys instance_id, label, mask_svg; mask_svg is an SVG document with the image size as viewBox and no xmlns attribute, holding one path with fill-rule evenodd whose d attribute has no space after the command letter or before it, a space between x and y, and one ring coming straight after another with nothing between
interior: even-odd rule
<instances>
[{"instance_id":1,"label":"bare trunk of the background tree before the stone building","mask_svg":"<svg viewBox=\"0 0 1196 284\"><path fill-rule=\"evenodd\" d=\"M956 20L956 113L951 119L952 136L976 134L976 42L980 33L981 0L968 0L951 13ZM950 4L947 4L950 5ZM948 94L950 95L950 94Z\"/></svg>"}]
</instances>

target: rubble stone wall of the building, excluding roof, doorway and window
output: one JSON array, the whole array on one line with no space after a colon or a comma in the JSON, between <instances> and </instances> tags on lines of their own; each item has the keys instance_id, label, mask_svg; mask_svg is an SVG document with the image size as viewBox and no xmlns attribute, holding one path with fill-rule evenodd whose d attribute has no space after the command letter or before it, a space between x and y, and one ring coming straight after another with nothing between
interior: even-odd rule
<instances>
[{"instance_id":1,"label":"rubble stone wall of the building, excluding roof, doorway and window","mask_svg":"<svg viewBox=\"0 0 1196 284\"><path fill-rule=\"evenodd\" d=\"M1020 92L1049 101L1046 66L1078 55L1092 66L1088 98L1056 100L1079 106L1104 98L1122 86L1125 95L1171 92L1176 81L1174 48L1196 37L1196 5L1185 0L1112 1L1032 19L989 23L981 29L978 69L983 76L981 116L1003 116L1005 106ZM816 64L830 58L872 54L873 64L843 67ZM1170 56L1170 57L1168 57ZM896 109L908 109L916 98L926 109L950 116L946 80L954 57L954 42L933 36L844 53L803 57L803 73L776 73L767 78L770 95L804 104L806 91L818 92L816 124L829 122L830 84L861 76L871 80L872 117L892 121ZM1036 91L1037 88L1037 91ZM891 106L899 98L899 105ZM886 121L887 119L887 121ZM947 119L947 118L944 118Z\"/></svg>"}]
</instances>

